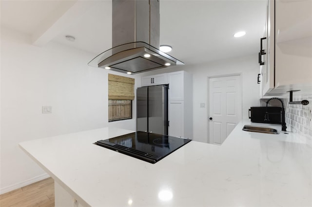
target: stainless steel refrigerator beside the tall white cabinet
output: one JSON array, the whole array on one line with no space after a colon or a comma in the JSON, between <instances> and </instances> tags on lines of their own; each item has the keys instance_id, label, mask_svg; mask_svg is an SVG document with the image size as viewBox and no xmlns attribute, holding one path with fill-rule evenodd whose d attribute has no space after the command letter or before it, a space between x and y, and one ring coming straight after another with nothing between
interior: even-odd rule
<instances>
[{"instance_id":1,"label":"stainless steel refrigerator beside the tall white cabinet","mask_svg":"<svg viewBox=\"0 0 312 207\"><path fill-rule=\"evenodd\" d=\"M137 88L137 131L168 135L168 86Z\"/></svg>"}]
</instances>

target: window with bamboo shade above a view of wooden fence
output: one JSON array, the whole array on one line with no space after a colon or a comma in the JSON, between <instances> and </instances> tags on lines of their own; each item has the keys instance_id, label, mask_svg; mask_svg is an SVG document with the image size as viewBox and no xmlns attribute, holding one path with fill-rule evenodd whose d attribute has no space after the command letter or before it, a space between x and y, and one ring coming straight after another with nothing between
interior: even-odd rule
<instances>
[{"instance_id":1,"label":"window with bamboo shade above a view of wooden fence","mask_svg":"<svg viewBox=\"0 0 312 207\"><path fill-rule=\"evenodd\" d=\"M135 79L108 74L108 121L132 119Z\"/></svg>"}]
</instances>

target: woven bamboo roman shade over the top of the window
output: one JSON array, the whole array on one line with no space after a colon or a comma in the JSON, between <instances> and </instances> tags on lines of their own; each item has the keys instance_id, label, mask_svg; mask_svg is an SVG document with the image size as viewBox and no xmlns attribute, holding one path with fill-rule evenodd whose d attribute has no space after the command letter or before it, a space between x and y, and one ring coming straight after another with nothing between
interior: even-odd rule
<instances>
[{"instance_id":1,"label":"woven bamboo roman shade over the top of the window","mask_svg":"<svg viewBox=\"0 0 312 207\"><path fill-rule=\"evenodd\" d=\"M119 75L108 74L109 100L134 100L135 79Z\"/></svg>"}]
</instances>

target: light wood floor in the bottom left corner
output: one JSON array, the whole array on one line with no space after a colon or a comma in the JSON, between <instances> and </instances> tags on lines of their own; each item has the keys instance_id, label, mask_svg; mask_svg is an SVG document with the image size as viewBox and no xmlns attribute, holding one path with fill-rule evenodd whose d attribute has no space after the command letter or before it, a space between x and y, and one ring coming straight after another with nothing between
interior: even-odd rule
<instances>
[{"instance_id":1,"label":"light wood floor in the bottom left corner","mask_svg":"<svg viewBox=\"0 0 312 207\"><path fill-rule=\"evenodd\" d=\"M0 195L0 207L54 207L54 180L50 177Z\"/></svg>"}]
</instances>

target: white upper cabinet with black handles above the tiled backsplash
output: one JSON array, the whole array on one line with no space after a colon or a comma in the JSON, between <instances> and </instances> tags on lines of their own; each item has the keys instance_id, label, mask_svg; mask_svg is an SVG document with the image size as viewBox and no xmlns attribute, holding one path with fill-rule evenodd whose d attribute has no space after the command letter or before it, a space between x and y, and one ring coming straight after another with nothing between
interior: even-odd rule
<instances>
[{"instance_id":1,"label":"white upper cabinet with black handles above the tiled backsplash","mask_svg":"<svg viewBox=\"0 0 312 207\"><path fill-rule=\"evenodd\" d=\"M269 0L264 33L262 95L311 94L312 0Z\"/></svg>"}]
</instances>

